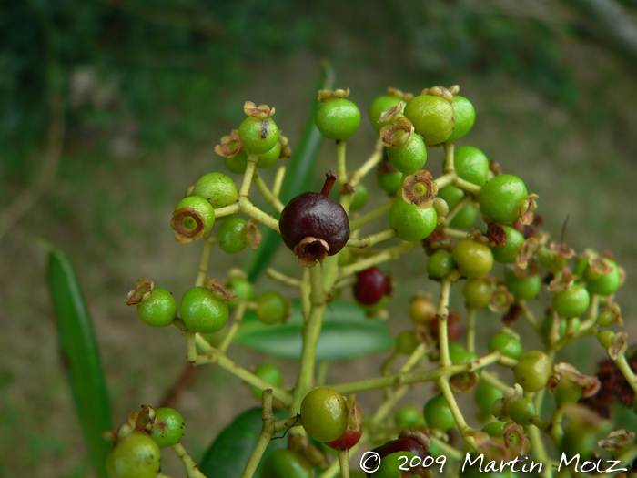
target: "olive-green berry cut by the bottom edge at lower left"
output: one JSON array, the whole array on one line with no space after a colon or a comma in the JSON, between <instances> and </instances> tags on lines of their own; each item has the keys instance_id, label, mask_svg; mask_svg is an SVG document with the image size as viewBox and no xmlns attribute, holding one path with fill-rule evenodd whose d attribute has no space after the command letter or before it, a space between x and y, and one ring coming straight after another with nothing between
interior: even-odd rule
<instances>
[{"instance_id":1,"label":"olive-green berry cut by the bottom edge at lower left","mask_svg":"<svg viewBox=\"0 0 637 478\"><path fill-rule=\"evenodd\" d=\"M106 455L108 478L156 478L160 466L159 447L146 433L133 432Z\"/></svg>"}]
</instances>

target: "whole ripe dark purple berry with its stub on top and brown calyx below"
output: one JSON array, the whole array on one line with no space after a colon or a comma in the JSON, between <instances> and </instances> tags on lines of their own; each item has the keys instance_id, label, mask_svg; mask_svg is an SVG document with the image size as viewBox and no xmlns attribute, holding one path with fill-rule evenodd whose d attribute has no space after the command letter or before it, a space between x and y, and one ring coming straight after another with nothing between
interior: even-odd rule
<instances>
[{"instance_id":1,"label":"whole ripe dark purple berry with its stub on top and brown calyx below","mask_svg":"<svg viewBox=\"0 0 637 478\"><path fill-rule=\"evenodd\" d=\"M317 260L338 254L349 239L349 218L329 191L336 174L329 172L320 193L306 192L288 202L281 211L278 227L286 246L298 256L298 263L313 267Z\"/></svg>"}]
</instances>

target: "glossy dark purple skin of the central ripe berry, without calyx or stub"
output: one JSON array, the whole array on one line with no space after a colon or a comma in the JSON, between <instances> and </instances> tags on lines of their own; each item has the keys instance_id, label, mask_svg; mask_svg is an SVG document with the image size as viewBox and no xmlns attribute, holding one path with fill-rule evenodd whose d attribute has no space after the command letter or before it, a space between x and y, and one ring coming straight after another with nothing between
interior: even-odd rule
<instances>
[{"instance_id":1,"label":"glossy dark purple skin of the central ripe berry, without calyx or stub","mask_svg":"<svg viewBox=\"0 0 637 478\"><path fill-rule=\"evenodd\" d=\"M328 255L338 254L349 239L349 218L334 199L306 192L288 202L278 221L281 238L288 249L308 237L328 243Z\"/></svg>"}]
</instances>

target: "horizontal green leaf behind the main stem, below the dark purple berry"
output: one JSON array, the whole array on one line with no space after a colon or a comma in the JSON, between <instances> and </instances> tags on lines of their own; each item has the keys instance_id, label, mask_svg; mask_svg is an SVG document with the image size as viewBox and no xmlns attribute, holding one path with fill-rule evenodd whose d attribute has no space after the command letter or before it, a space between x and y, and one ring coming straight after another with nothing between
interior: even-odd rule
<instances>
[{"instance_id":1,"label":"horizontal green leaf behind the main stem, below the dark purple berry","mask_svg":"<svg viewBox=\"0 0 637 478\"><path fill-rule=\"evenodd\" d=\"M248 312L235 341L273 357L298 360L303 344L303 318L300 301L295 300L293 306L292 318L280 325L264 325L256 319L253 311ZM325 311L317 360L356 359L369 353L387 351L392 344L393 339L384 321L369 320L358 306L334 301Z\"/></svg>"}]
</instances>

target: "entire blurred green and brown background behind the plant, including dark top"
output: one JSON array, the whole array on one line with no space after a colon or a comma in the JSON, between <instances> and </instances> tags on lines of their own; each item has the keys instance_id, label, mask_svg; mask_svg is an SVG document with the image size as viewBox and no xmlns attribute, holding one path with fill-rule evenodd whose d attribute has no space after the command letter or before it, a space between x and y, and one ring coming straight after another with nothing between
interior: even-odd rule
<instances>
[{"instance_id":1,"label":"entire blurred green and brown background behind the plant, including dark top","mask_svg":"<svg viewBox=\"0 0 637 478\"><path fill-rule=\"evenodd\" d=\"M634 0L0 3L0 476L92 476L58 360L40 239L76 267L114 422L140 403L160 402L184 369L184 342L176 330L149 330L137 320L126 292L140 277L177 297L190 287L200 251L173 239L172 208L201 175L224 170L213 149L238 126L245 100L275 106L294 148L321 58L363 112L349 141L352 165L373 147L366 111L387 86L418 93L460 84L477 110L461 144L521 176L539 194L551 234L570 215L571 247L614 254L628 272L618 301L634 337L635 20ZM326 142L317 178L333 168L333 154ZM441 156L430 150L435 174ZM382 200L375 196L369 207ZM248 255L214 257L210 275L222 278ZM410 296L436 290L424 280L424 256L414 257L385 268L399 280L389 303L394 332L409 327ZM287 249L278 258L294 273ZM486 331L500 326L485 317ZM565 353L594 372L599 349L591 340ZM245 366L263 361L241 349L230 356ZM337 364L328 381L371 376L381 360ZM296 366L285 365L291 382ZM409 400L422 405L430 388L415 387ZM361 403L379 398L371 392ZM225 372L202 371L177 403L187 449L197 458L236 412L256 404ZM182 475L178 468L166 460L167 474Z\"/></svg>"}]
</instances>

